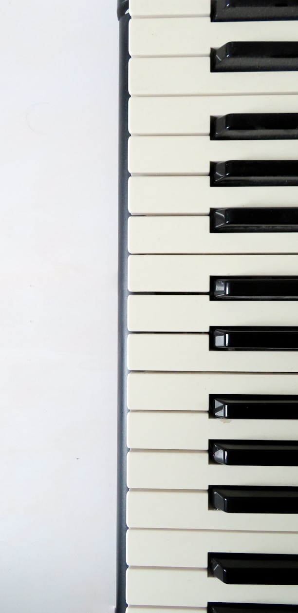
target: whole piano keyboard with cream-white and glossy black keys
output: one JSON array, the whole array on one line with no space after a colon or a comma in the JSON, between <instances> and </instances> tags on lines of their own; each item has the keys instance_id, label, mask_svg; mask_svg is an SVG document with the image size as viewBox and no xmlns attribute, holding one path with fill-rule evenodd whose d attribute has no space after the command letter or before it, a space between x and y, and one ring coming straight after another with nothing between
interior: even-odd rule
<instances>
[{"instance_id":1,"label":"whole piano keyboard with cream-white and glossy black keys","mask_svg":"<svg viewBox=\"0 0 298 613\"><path fill-rule=\"evenodd\" d=\"M294 613L298 0L122 5L117 613Z\"/></svg>"}]
</instances>

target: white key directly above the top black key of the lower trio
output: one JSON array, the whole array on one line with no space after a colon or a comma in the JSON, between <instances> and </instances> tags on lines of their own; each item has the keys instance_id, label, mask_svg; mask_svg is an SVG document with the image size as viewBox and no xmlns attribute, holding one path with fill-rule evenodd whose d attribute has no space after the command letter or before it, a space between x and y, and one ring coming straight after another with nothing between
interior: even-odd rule
<instances>
[{"instance_id":1,"label":"white key directly above the top black key of the lower trio","mask_svg":"<svg viewBox=\"0 0 298 613\"><path fill-rule=\"evenodd\" d=\"M298 394L296 375L129 373L130 411L208 411L209 394Z\"/></svg>"}]
</instances>

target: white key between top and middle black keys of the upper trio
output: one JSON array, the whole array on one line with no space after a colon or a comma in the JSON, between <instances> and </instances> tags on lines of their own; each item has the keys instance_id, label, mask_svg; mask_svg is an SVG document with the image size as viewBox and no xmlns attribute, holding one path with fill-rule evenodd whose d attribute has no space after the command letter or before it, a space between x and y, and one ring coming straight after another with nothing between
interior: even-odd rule
<instances>
[{"instance_id":1,"label":"white key between top and middle black keys of the upper trio","mask_svg":"<svg viewBox=\"0 0 298 613\"><path fill-rule=\"evenodd\" d=\"M297 160L298 140L210 140L208 136L131 136L128 141L128 170L132 175L208 175L210 162L231 159Z\"/></svg>"}]
</instances>

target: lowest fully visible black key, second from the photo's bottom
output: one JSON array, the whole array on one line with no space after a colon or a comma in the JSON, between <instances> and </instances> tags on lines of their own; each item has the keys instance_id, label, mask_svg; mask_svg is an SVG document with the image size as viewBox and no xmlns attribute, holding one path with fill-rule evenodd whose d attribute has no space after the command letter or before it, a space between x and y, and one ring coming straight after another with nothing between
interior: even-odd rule
<instances>
[{"instance_id":1,"label":"lowest fully visible black key, second from the photo's bottom","mask_svg":"<svg viewBox=\"0 0 298 613\"><path fill-rule=\"evenodd\" d=\"M208 571L230 585L297 585L298 555L210 553Z\"/></svg>"}]
</instances>

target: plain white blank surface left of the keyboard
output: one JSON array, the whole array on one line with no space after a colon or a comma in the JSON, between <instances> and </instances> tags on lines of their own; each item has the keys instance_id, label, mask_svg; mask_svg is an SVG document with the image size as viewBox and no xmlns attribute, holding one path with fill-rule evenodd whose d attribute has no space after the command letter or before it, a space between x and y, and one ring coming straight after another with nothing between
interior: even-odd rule
<instances>
[{"instance_id":1,"label":"plain white blank surface left of the keyboard","mask_svg":"<svg viewBox=\"0 0 298 613\"><path fill-rule=\"evenodd\" d=\"M115 604L116 0L0 3L0 611Z\"/></svg>"}]
</instances>

